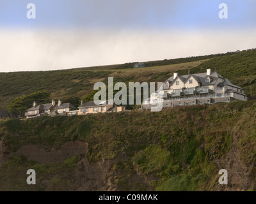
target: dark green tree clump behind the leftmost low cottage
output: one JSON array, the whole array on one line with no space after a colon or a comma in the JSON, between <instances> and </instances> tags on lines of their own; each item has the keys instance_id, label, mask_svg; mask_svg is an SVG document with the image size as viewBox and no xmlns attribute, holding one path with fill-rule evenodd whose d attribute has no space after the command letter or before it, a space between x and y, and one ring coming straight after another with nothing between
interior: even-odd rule
<instances>
[{"instance_id":1,"label":"dark green tree clump behind the leftmost low cottage","mask_svg":"<svg viewBox=\"0 0 256 204\"><path fill-rule=\"evenodd\" d=\"M36 91L31 95L22 95L10 102L7 106L8 111L13 117L24 117L26 111L33 105L33 101L36 101L37 104L48 103L49 96L49 92L46 91Z\"/></svg>"}]
</instances>

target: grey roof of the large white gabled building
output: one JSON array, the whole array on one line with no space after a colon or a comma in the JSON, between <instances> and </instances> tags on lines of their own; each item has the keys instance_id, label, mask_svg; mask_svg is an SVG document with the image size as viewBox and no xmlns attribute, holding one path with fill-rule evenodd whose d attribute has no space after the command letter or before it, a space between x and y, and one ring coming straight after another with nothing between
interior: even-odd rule
<instances>
[{"instance_id":1,"label":"grey roof of the large white gabled building","mask_svg":"<svg viewBox=\"0 0 256 204\"><path fill-rule=\"evenodd\" d=\"M230 85L232 87L237 87L239 89L242 89L241 87L234 85L230 82L230 80L228 80L227 78L222 77L218 72L214 71L211 73L211 75L209 75L209 77L211 78L211 82L210 83L205 83L205 78L207 77L207 73L198 73L198 74L191 74L191 75L181 75L178 76L177 78L179 78L180 80L182 80L182 82L186 82L186 80L188 80L189 77L193 77L195 78L195 80L197 82L200 83L200 85L214 85L216 84L216 81L218 78L223 78L224 79L224 83L225 85ZM173 83L173 81L175 80L175 78L173 79L173 77L168 78L168 82L170 82L171 84Z\"/></svg>"}]
</instances>

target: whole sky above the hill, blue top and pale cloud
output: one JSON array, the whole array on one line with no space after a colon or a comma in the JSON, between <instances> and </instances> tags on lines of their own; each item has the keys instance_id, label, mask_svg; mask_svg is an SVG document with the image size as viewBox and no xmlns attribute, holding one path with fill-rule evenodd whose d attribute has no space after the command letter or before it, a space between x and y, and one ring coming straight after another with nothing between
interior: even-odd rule
<instances>
[{"instance_id":1,"label":"whole sky above the hill, blue top and pale cloud","mask_svg":"<svg viewBox=\"0 0 256 204\"><path fill-rule=\"evenodd\" d=\"M219 17L221 3L228 18ZM255 10L255 0L0 0L0 72L256 48Z\"/></svg>"}]
</instances>

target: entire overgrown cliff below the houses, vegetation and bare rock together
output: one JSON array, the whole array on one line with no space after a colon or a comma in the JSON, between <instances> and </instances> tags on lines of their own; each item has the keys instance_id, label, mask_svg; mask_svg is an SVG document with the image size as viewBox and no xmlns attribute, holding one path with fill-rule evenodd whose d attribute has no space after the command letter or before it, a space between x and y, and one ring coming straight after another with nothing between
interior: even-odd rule
<instances>
[{"instance_id":1,"label":"entire overgrown cliff below the houses, vegetation and bare rock together","mask_svg":"<svg viewBox=\"0 0 256 204\"><path fill-rule=\"evenodd\" d=\"M252 100L2 121L0 191L256 190L255 114Z\"/></svg>"}]
</instances>

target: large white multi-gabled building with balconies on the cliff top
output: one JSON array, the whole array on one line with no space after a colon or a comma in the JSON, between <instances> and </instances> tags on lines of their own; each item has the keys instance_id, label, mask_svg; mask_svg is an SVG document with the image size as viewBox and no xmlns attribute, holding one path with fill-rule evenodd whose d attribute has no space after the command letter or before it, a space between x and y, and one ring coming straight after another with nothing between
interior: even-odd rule
<instances>
[{"instance_id":1,"label":"large white multi-gabled building with balconies on the cliff top","mask_svg":"<svg viewBox=\"0 0 256 204\"><path fill-rule=\"evenodd\" d=\"M179 76L173 73L163 83L163 91L156 91L143 101L141 108L151 108L156 103L166 107L204 103L230 102L234 99L247 101L244 89L232 84L218 72L207 69L205 73Z\"/></svg>"}]
</instances>

